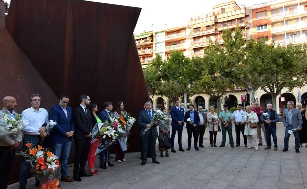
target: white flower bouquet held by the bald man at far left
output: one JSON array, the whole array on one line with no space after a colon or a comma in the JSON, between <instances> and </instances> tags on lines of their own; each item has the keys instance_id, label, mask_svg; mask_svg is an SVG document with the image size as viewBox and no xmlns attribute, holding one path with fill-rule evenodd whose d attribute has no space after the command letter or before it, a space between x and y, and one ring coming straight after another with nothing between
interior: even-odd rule
<instances>
[{"instance_id":1,"label":"white flower bouquet held by the bald man at far left","mask_svg":"<svg viewBox=\"0 0 307 189\"><path fill-rule=\"evenodd\" d=\"M0 118L0 137L10 134L16 134L18 131L23 129L23 121L21 114L10 114ZM16 138L14 135L12 138Z\"/></svg>"}]
</instances>

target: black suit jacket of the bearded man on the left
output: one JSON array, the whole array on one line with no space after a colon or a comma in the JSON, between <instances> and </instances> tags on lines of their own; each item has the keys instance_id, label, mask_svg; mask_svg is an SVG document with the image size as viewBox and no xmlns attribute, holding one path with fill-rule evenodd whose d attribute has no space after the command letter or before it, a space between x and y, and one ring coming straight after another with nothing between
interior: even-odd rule
<instances>
[{"instance_id":1,"label":"black suit jacket of the bearded man on the left","mask_svg":"<svg viewBox=\"0 0 307 189\"><path fill-rule=\"evenodd\" d=\"M91 110L87 108L87 115L84 113L84 110L79 105L74 110L74 122L75 122L75 139L86 139L85 135L89 135L92 132L92 115Z\"/></svg>"}]
</instances>

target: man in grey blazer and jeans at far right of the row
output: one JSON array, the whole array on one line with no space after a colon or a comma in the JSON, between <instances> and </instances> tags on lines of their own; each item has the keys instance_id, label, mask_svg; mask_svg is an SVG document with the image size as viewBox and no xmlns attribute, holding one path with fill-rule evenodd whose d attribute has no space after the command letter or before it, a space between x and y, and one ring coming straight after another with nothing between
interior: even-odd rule
<instances>
[{"instance_id":1,"label":"man in grey blazer and jeans at far right of the row","mask_svg":"<svg viewBox=\"0 0 307 189\"><path fill-rule=\"evenodd\" d=\"M283 125L286 127L286 133L284 138L284 149L283 152L288 151L289 148L289 130L297 129L297 131L293 132L295 138L295 152L299 153L300 150L300 138L299 138L299 130L302 128L302 114L300 110L293 108L294 102L287 102L287 109L283 111Z\"/></svg>"}]
</instances>

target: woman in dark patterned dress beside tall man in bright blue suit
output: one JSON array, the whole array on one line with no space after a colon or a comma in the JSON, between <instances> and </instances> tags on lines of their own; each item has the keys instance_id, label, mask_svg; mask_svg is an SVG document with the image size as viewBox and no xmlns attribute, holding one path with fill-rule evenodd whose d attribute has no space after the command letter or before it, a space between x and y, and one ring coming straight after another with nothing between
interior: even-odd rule
<instances>
[{"instance_id":1,"label":"woman in dark patterned dress beside tall man in bright blue suit","mask_svg":"<svg viewBox=\"0 0 307 189\"><path fill-rule=\"evenodd\" d=\"M166 114L166 108L162 107L161 111L163 114ZM168 151L171 148L171 137L170 137L170 128L169 121L163 119L160 121L159 125L159 150L161 151L161 157L163 157L163 151L165 150L165 156L168 157Z\"/></svg>"}]
</instances>

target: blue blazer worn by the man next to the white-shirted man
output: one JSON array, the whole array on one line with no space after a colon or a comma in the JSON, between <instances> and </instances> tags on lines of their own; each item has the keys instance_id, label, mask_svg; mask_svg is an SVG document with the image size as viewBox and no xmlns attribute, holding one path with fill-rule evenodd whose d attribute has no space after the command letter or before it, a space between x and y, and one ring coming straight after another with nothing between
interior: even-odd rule
<instances>
[{"instance_id":1,"label":"blue blazer worn by the man next to the white-shirted man","mask_svg":"<svg viewBox=\"0 0 307 189\"><path fill-rule=\"evenodd\" d=\"M57 104L49 111L49 119L56 121L55 125L50 132L50 139L52 143L64 143L68 140L72 140L72 137L67 137L66 132L74 131L74 120L72 116L72 108L67 106L67 118L62 107Z\"/></svg>"}]
</instances>

